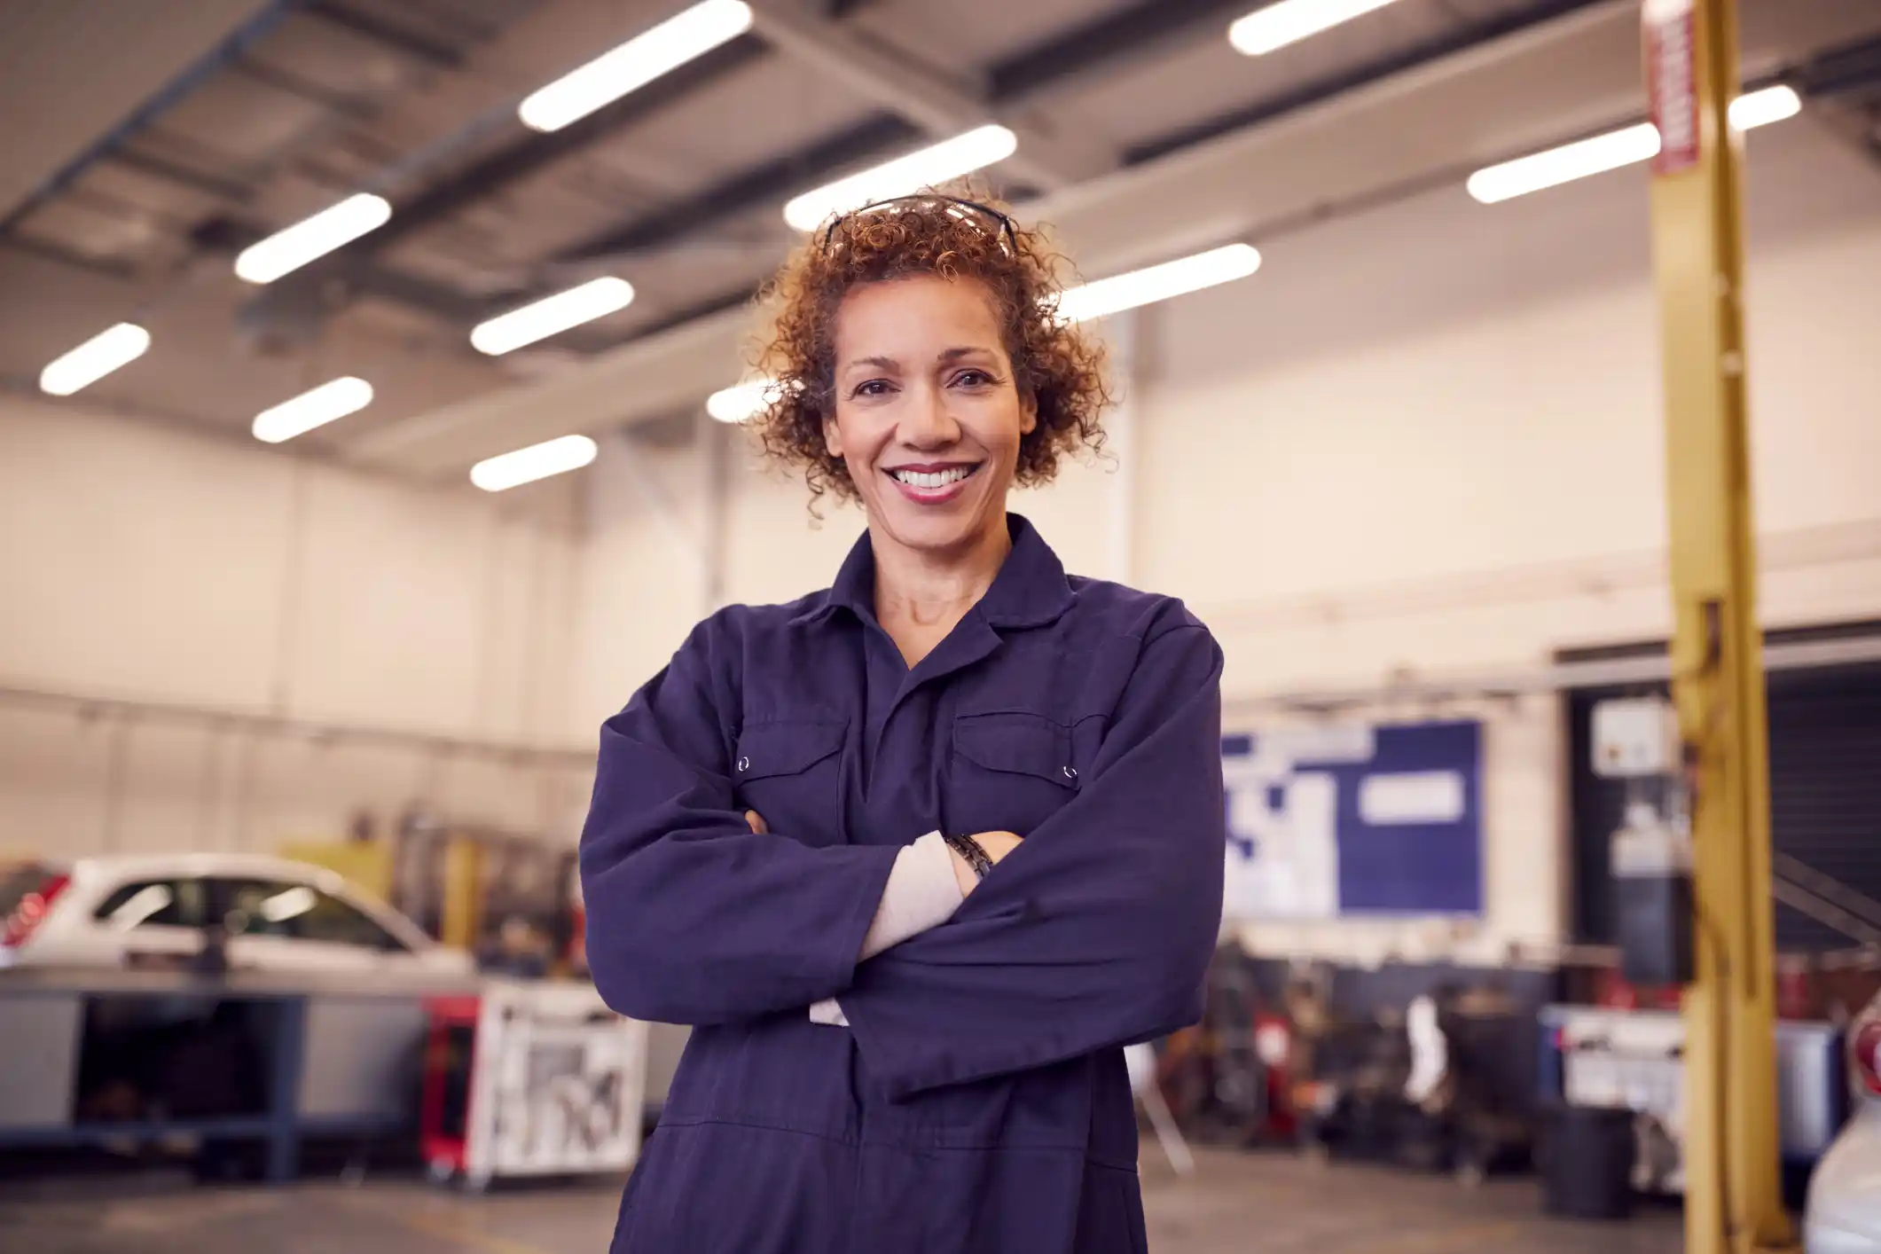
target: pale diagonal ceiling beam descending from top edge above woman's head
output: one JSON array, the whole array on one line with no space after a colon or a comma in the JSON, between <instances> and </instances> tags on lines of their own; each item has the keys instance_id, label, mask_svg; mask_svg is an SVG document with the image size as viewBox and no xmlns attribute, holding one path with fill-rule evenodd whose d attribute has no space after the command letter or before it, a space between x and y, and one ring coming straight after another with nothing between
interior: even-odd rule
<instances>
[{"instance_id":1,"label":"pale diagonal ceiling beam descending from top edge above woman's head","mask_svg":"<svg viewBox=\"0 0 1881 1254\"><path fill-rule=\"evenodd\" d=\"M1061 188L1117 167L1115 154L1099 145L1050 132L1031 118L995 117L984 85L956 81L860 30L788 8L788 0L767 0L752 6L752 11L754 30L779 53L892 109L935 137L1003 122L1020 137L1020 150L1008 165L1040 186Z\"/></svg>"}]
</instances>

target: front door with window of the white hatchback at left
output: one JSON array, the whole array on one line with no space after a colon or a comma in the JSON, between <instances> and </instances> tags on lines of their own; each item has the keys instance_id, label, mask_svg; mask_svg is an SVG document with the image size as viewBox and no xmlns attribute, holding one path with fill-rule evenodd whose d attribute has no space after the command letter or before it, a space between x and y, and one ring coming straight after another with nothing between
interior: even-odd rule
<instances>
[{"instance_id":1,"label":"front door with window of the white hatchback at left","mask_svg":"<svg viewBox=\"0 0 1881 1254\"><path fill-rule=\"evenodd\" d=\"M367 974L401 968L404 944L356 904L312 884L222 882L229 963L246 970Z\"/></svg>"}]
</instances>

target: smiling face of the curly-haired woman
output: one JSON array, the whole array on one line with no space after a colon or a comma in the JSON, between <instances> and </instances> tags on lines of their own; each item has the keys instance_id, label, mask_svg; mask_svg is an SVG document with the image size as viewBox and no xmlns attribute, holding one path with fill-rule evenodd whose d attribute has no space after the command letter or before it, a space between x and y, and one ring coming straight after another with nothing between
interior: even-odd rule
<instances>
[{"instance_id":1,"label":"smiling face of the curly-haired woman","mask_svg":"<svg viewBox=\"0 0 1881 1254\"><path fill-rule=\"evenodd\" d=\"M935 274L863 284L835 318L841 457L882 540L933 556L1003 534L1020 440L1038 423L991 293Z\"/></svg>"}]
</instances>

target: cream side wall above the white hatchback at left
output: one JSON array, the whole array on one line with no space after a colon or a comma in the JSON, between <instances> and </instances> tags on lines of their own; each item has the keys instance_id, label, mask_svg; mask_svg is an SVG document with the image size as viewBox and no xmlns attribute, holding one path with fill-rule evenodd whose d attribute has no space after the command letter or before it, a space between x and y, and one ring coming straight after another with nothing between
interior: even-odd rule
<instances>
[{"instance_id":1,"label":"cream side wall above the white hatchback at left","mask_svg":"<svg viewBox=\"0 0 1881 1254\"><path fill-rule=\"evenodd\" d=\"M0 850L256 848L357 808L570 839L581 769L399 735L577 748L574 485L515 500L0 400ZM81 716L19 692L339 724ZM570 810L574 820L570 820Z\"/></svg>"}]
</instances>

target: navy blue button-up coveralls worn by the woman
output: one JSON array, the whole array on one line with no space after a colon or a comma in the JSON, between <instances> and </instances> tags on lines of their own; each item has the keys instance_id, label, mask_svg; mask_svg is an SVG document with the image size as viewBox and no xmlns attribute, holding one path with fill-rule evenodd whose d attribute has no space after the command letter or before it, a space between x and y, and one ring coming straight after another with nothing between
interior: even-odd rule
<instances>
[{"instance_id":1,"label":"navy blue button-up coveralls worn by the woman","mask_svg":"<svg viewBox=\"0 0 1881 1254\"><path fill-rule=\"evenodd\" d=\"M615 1254L1144 1250L1121 1045L1200 1013L1221 649L1010 530L912 669L863 536L830 590L702 622L602 728L589 964L621 1013L694 1025ZM897 850L935 829L1025 842L858 963ZM848 1028L809 1019L828 996Z\"/></svg>"}]
</instances>

